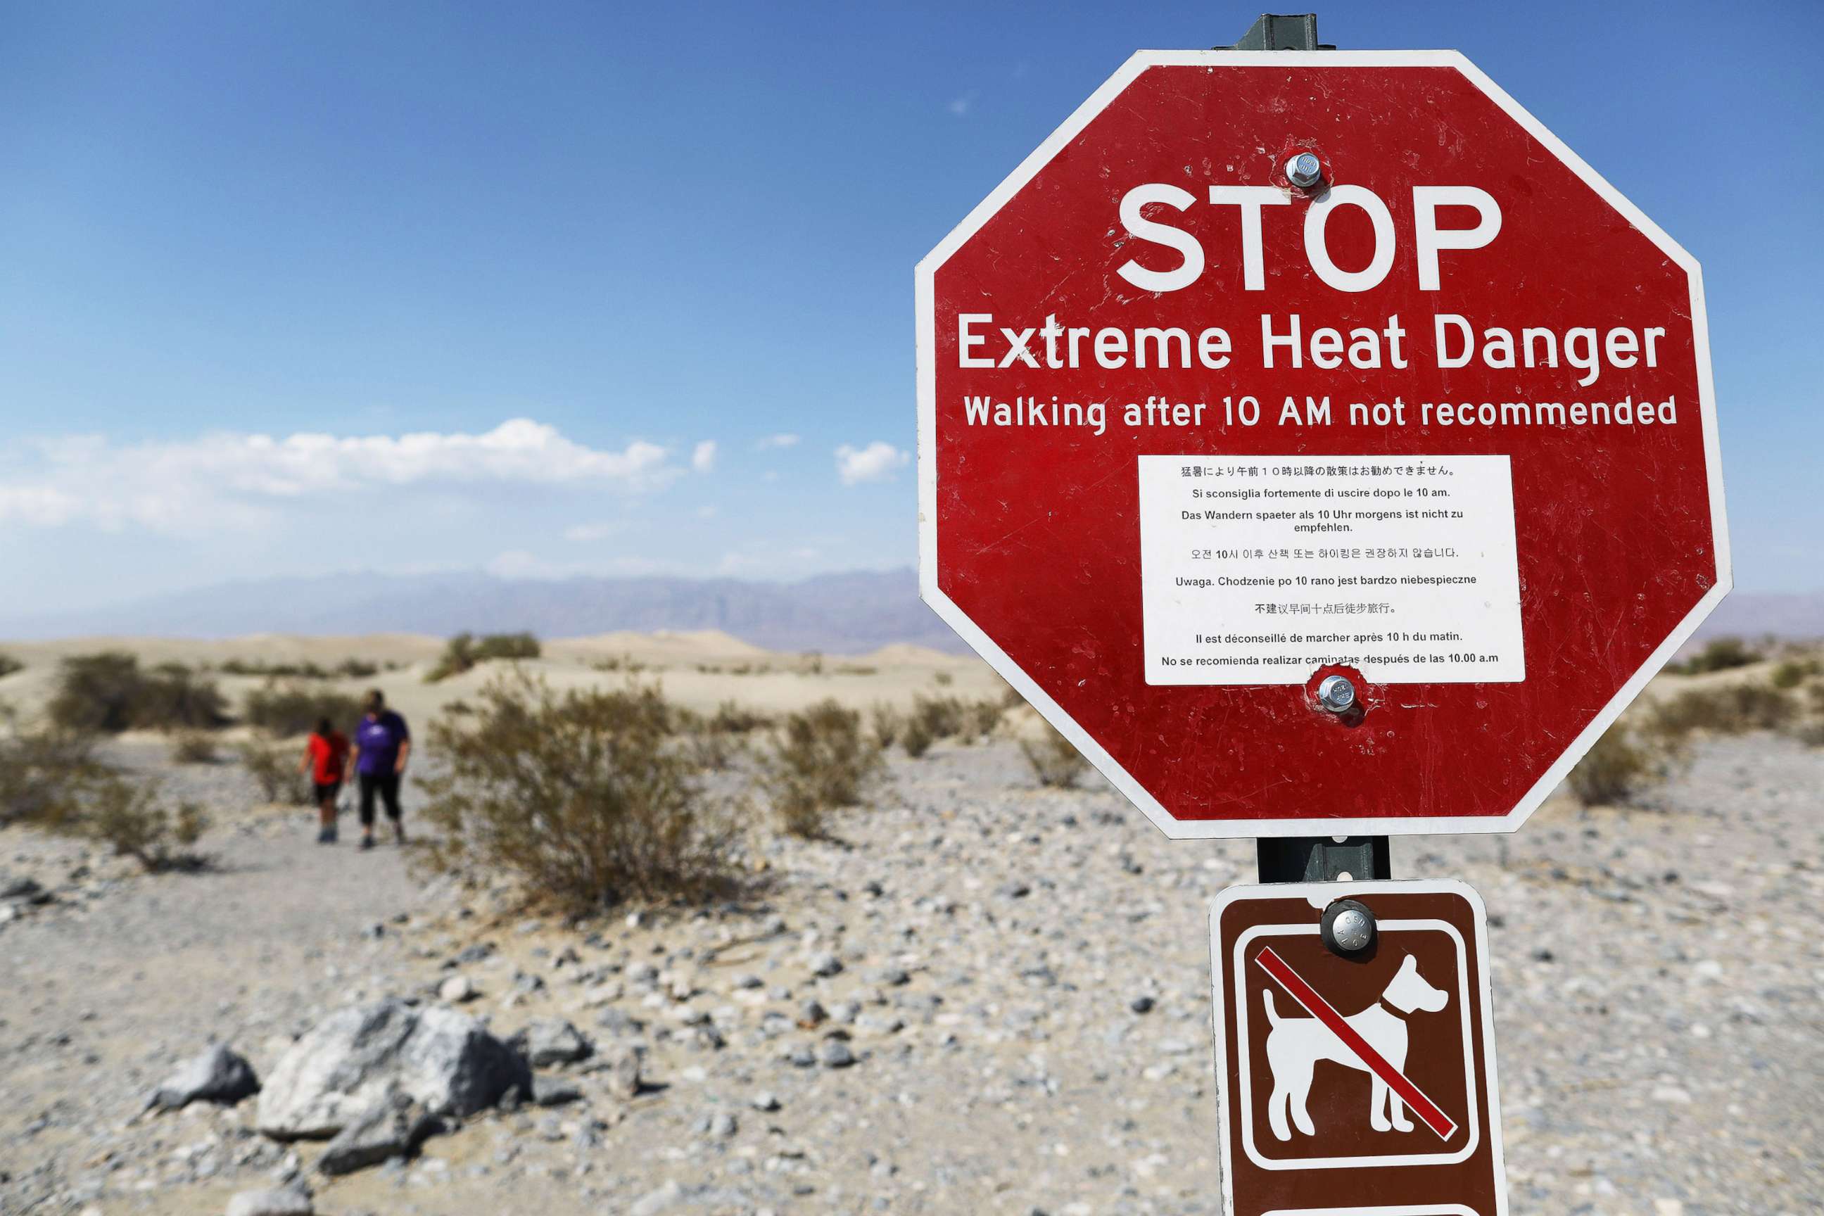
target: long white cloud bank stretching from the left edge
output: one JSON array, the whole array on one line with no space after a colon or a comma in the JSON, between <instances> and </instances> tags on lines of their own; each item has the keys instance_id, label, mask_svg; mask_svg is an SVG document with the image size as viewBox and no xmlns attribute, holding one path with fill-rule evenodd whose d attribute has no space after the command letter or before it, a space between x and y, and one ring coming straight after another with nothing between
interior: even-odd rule
<instances>
[{"instance_id":1,"label":"long white cloud bank stretching from the left edge","mask_svg":"<svg viewBox=\"0 0 1824 1216\"><path fill-rule=\"evenodd\" d=\"M591 448L529 417L483 434L217 432L153 443L64 436L20 443L0 463L0 525L206 531L244 527L285 503L363 489L573 485L638 492L679 474L657 443Z\"/></svg>"}]
</instances>

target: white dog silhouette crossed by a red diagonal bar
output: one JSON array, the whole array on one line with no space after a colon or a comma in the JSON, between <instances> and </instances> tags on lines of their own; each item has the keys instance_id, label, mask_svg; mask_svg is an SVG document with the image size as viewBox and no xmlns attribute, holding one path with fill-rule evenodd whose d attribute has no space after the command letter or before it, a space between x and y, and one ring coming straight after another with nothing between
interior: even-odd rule
<instances>
[{"instance_id":1,"label":"white dog silhouette crossed by a red diagonal bar","mask_svg":"<svg viewBox=\"0 0 1824 1216\"><path fill-rule=\"evenodd\" d=\"M1450 994L1425 983L1419 975L1419 964L1408 953L1399 964L1394 981L1381 992L1381 997L1361 1014L1344 1021L1373 1050L1381 1052L1394 1068L1404 1072L1406 1015L1414 1010L1435 1014L1448 1003ZM1291 1139L1291 1127L1286 1123L1288 1108L1291 1123L1301 1132L1306 1136L1317 1134L1311 1112L1306 1108L1306 1099L1311 1096L1311 1074L1317 1070L1317 1061L1321 1059L1332 1059L1346 1068L1366 1072L1373 1081L1373 1092L1368 1097L1368 1127L1377 1132L1412 1130L1412 1119L1406 1118L1406 1103L1388 1090L1386 1081L1357 1059L1355 1052L1346 1048L1330 1026L1315 1017L1280 1017L1279 1010L1273 1008L1271 988L1266 990L1266 1017L1273 1023L1273 1030L1266 1036L1266 1059L1273 1068L1273 1096L1268 1099L1266 1114L1268 1123L1273 1125L1273 1136Z\"/></svg>"}]
</instances>

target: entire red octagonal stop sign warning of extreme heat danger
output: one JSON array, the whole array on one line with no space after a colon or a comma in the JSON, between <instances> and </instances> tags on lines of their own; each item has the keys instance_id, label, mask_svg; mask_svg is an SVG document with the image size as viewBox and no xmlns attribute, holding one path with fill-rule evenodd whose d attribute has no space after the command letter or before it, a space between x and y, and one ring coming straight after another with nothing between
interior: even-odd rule
<instances>
[{"instance_id":1,"label":"entire red octagonal stop sign warning of extreme heat danger","mask_svg":"<svg viewBox=\"0 0 1824 1216\"><path fill-rule=\"evenodd\" d=\"M1696 263L1456 53L1136 55L917 345L925 600L1176 837L1510 831L1729 587Z\"/></svg>"}]
</instances>

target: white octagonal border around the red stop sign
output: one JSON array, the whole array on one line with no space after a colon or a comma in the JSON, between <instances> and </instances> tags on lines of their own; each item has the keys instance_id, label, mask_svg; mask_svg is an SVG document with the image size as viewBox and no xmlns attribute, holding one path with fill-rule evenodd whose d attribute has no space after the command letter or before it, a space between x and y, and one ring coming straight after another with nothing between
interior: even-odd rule
<instances>
[{"instance_id":1,"label":"white octagonal border around the red stop sign","mask_svg":"<svg viewBox=\"0 0 1824 1216\"><path fill-rule=\"evenodd\" d=\"M1456 67L1470 84L1507 111L1529 135L1545 144L1572 173L1594 190L1609 206L1620 211L1634 228L1653 241L1662 253L1684 268L1691 284L1691 330L1696 348L1698 405L1704 427L1704 459L1709 470L1711 536L1716 558L1716 576L1711 589L1693 605L1691 613L1673 629L1671 636L1622 685L1607 706L1591 720L1538 782L1521 795L1507 815L1439 815L1439 817L1361 817L1361 819L1176 819L1151 795L1120 762L1083 731L1058 702L1020 669L1020 665L989 638L938 587L938 345L936 345L936 275L958 248L1000 211L1058 151L1082 133L1109 102L1122 95L1140 73L1149 67ZM1508 97L1476 64L1459 51L1136 51L1122 67L1102 82L1043 144L1020 162L1007 179L972 210L938 248L925 255L916 270L917 308L917 505L919 505L919 598L925 600L969 645L981 654L1025 700L1038 709L1078 751L1094 764L1153 824L1173 840L1224 837L1310 837L1310 835L1432 835L1514 831L1536 811L1583 758L1603 731L1640 695L1647 682L1678 653L1704 618L1709 616L1735 585L1729 563L1729 523L1724 510L1722 454L1716 441L1716 388L1711 376L1709 319L1704 310L1704 273L1696 259L1629 202L1596 170L1570 151L1538 119Z\"/></svg>"}]
</instances>

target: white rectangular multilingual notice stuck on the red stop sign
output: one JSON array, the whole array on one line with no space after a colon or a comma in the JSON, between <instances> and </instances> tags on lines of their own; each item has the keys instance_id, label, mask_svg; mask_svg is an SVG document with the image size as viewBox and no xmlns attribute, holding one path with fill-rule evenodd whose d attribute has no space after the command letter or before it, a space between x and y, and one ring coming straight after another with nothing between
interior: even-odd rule
<instances>
[{"instance_id":1,"label":"white rectangular multilingual notice stuck on the red stop sign","mask_svg":"<svg viewBox=\"0 0 1824 1216\"><path fill-rule=\"evenodd\" d=\"M1525 680L1507 456L1142 456L1147 684Z\"/></svg>"}]
</instances>

